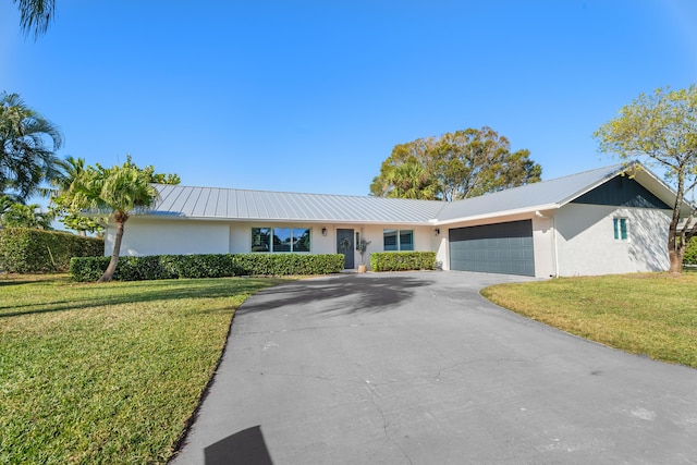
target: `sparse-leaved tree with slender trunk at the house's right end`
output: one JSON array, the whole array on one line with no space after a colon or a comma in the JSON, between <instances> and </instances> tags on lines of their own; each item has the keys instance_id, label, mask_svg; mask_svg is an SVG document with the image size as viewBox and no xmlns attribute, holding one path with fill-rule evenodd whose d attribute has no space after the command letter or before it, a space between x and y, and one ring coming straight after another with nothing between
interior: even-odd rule
<instances>
[{"instance_id":1,"label":"sparse-leaved tree with slender trunk at the house's right end","mask_svg":"<svg viewBox=\"0 0 697 465\"><path fill-rule=\"evenodd\" d=\"M670 272L681 273L685 247L697 232L690 225L695 206L681 225L686 195L697 185L697 86L671 90L658 88L641 94L620 110L620 115L602 124L594 136L603 152L628 162L638 159L659 167L676 187L675 204L668 230Z\"/></svg>"}]
</instances>

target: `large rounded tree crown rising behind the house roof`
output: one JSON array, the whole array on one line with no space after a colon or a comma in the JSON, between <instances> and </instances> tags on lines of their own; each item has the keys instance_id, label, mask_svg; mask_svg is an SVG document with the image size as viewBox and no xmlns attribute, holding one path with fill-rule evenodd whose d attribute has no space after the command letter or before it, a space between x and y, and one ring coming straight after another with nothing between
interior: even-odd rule
<instances>
[{"instance_id":1,"label":"large rounded tree crown rising behind the house roof","mask_svg":"<svg viewBox=\"0 0 697 465\"><path fill-rule=\"evenodd\" d=\"M382 162L370 194L378 197L458 200L539 182L529 150L511 152L490 127L399 144Z\"/></svg>"}]
</instances>

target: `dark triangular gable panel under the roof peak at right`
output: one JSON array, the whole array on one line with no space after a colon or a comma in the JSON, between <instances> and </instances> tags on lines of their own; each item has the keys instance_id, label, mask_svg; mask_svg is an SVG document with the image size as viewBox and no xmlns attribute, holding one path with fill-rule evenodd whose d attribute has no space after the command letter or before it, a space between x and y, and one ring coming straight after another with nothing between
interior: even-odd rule
<instances>
[{"instance_id":1,"label":"dark triangular gable panel under the roof peak at right","mask_svg":"<svg viewBox=\"0 0 697 465\"><path fill-rule=\"evenodd\" d=\"M628 176L614 176L592 191L572 200L572 204L658 208L660 210L672 209L672 207L651 194L636 180Z\"/></svg>"}]
</instances>

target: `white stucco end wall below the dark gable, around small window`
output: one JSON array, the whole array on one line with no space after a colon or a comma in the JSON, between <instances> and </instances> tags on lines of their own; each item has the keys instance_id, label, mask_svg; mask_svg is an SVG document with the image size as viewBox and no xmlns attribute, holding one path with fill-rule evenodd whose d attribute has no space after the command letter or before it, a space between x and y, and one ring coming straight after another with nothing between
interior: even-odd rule
<instances>
[{"instance_id":1,"label":"white stucco end wall below the dark gable, around small window","mask_svg":"<svg viewBox=\"0 0 697 465\"><path fill-rule=\"evenodd\" d=\"M670 211L568 204L554 225L559 276L665 271ZM628 240L614 238L613 218L628 220Z\"/></svg>"}]
</instances>

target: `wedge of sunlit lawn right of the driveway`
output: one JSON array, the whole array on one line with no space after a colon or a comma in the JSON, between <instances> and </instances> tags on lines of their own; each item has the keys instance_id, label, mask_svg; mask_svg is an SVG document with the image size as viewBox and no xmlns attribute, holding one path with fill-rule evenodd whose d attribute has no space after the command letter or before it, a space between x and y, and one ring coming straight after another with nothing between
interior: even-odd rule
<instances>
[{"instance_id":1,"label":"wedge of sunlit lawn right of the driveway","mask_svg":"<svg viewBox=\"0 0 697 465\"><path fill-rule=\"evenodd\" d=\"M496 285L496 304L633 354L697 368L697 273L639 273Z\"/></svg>"}]
</instances>

